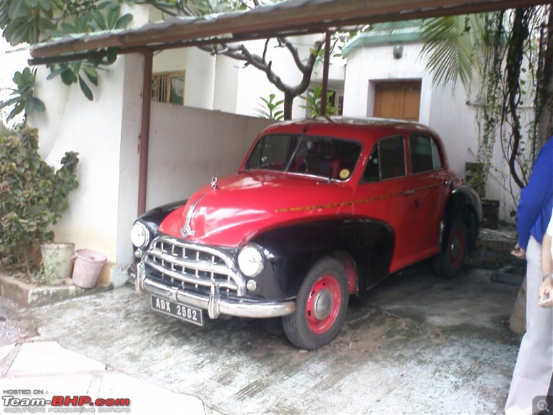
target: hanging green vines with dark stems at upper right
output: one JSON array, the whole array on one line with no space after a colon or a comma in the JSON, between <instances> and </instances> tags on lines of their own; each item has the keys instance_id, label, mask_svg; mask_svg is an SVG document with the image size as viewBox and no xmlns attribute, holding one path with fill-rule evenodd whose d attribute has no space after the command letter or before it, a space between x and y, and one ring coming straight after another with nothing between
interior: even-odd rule
<instances>
[{"instance_id":1,"label":"hanging green vines with dark stems at upper right","mask_svg":"<svg viewBox=\"0 0 553 415\"><path fill-rule=\"evenodd\" d=\"M543 131L551 130L552 70L547 62L553 57L553 44L545 22L551 25L552 12L551 6L518 8L486 17L477 99L480 165L471 183L481 192L494 168L491 156L496 138L512 182L522 188L528 182L536 149L547 138ZM510 183L516 201L518 192Z\"/></svg>"}]
</instances>

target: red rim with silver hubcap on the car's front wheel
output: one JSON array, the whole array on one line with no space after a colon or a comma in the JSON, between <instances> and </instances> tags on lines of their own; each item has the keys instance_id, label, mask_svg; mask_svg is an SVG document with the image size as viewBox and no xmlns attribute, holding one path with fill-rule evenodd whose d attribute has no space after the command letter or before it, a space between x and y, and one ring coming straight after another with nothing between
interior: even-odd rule
<instances>
[{"instance_id":1,"label":"red rim with silver hubcap on the car's front wheel","mask_svg":"<svg viewBox=\"0 0 553 415\"><path fill-rule=\"evenodd\" d=\"M332 275L324 275L311 288L306 305L309 329L321 334L334 324L340 308L340 284Z\"/></svg>"}]
</instances>

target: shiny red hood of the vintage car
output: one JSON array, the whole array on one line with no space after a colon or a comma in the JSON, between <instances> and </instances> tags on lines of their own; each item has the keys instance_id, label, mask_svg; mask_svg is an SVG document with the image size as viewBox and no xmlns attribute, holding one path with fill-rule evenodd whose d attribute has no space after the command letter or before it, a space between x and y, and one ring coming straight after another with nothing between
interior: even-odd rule
<instances>
[{"instance_id":1,"label":"shiny red hood of the vintage car","mask_svg":"<svg viewBox=\"0 0 553 415\"><path fill-rule=\"evenodd\" d=\"M159 230L186 241L238 246L256 233L307 216L351 212L348 185L324 179L245 172L202 187Z\"/></svg>"}]
</instances>

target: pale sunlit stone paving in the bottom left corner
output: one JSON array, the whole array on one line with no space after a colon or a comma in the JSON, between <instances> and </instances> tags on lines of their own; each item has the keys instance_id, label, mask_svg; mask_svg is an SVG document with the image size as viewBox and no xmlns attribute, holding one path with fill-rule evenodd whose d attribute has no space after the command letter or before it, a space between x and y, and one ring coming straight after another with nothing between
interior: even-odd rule
<instances>
[{"instance_id":1,"label":"pale sunlit stone paving in the bottom left corner","mask_svg":"<svg viewBox=\"0 0 553 415\"><path fill-rule=\"evenodd\" d=\"M8 344L0 348L0 356L0 368L4 369L0 390L5 412L24 409L22 405L12 405L9 396L44 400L68 396L72 399L88 397L91 403L82 407L71 404L61 409L82 408L86 412L120 409L120 412L135 415L205 415L203 403L198 398L176 394L151 382L122 374L82 353L61 347L57 342ZM113 399L115 403L121 400L121 405L97 406L95 403L99 398L104 401ZM27 408L36 411L41 407L44 406L30 405ZM46 408L59 409L59 406L46 405Z\"/></svg>"}]
</instances>

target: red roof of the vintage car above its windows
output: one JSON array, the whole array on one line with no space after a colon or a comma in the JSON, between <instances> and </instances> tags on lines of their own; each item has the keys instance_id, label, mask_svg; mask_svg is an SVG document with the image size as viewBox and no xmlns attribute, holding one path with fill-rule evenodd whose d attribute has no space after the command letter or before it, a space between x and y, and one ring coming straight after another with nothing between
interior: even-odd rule
<instances>
[{"instance_id":1,"label":"red roof of the vintage car above its windows","mask_svg":"<svg viewBox=\"0 0 553 415\"><path fill-rule=\"evenodd\" d=\"M266 128L263 134L303 133L310 136L350 138L364 143L372 143L380 138L405 132L420 132L438 137L435 131L418 122L389 118L351 118L341 116L302 118L279 122Z\"/></svg>"}]
</instances>

